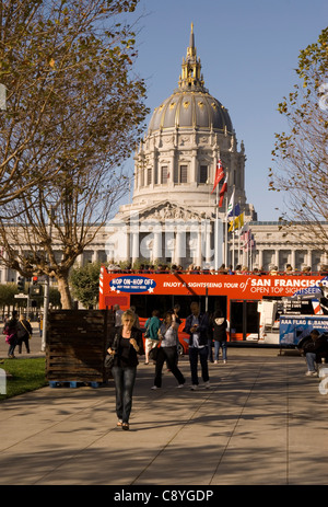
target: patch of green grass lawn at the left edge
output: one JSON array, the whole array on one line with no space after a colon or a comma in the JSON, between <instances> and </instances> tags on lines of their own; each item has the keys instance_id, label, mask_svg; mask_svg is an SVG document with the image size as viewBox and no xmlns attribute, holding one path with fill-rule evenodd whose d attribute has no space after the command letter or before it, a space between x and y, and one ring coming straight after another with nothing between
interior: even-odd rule
<instances>
[{"instance_id":1,"label":"patch of green grass lawn at the left edge","mask_svg":"<svg viewBox=\"0 0 328 507\"><path fill-rule=\"evenodd\" d=\"M44 357L4 359L3 362L0 362L0 368L12 376L12 378L7 379L7 394L0 394L0 402L7 397L47 385L46 359ZM2 373L2 371L0 372Z\"/></svg>"}]
</instances>

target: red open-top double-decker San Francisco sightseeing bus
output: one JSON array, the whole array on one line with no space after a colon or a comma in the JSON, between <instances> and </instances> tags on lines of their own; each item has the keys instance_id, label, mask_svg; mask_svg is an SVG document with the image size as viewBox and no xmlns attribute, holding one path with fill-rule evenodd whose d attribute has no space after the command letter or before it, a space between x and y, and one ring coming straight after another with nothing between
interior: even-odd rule
<instances>
[{"instance_id":1,"label":"red open-top double-decker San Francisco sightseeing bus","mask_svg":"<svg viewBox=\"0 0 328 507\"><path fill-rule=\"evenodd\" d=\"M153 310L164 314L179 304L179 339L186 352L184 321L190 314L190 303L198 301L201 311L209 314L223 310L230 324L230 342L281 346L279 315L323 314L317 298L326 286L328 277L320 274L124 273L102 267L99 309L119 304L126 310L133 306L144 324Z\"/></svg>"}]
</instances>

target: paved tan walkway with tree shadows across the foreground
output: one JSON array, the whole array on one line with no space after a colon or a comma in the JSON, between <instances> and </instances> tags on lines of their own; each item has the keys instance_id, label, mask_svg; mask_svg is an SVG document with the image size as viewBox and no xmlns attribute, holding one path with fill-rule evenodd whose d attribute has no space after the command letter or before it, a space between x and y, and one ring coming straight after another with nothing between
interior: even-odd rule
<instances>
[{"instance_id":1,"label":"paved tan walkway with tree shadows across the foreground","mask_svg":"<svg viewBox=\"0 0 328 507\"><path fill-rule=\"evenodd\" d=\"M19 360L19 359L17 359ZM0 403L1 485L326 485L328 395L305 360L229 348L211 389L184 389L140 364L130 430L116 428L113 381L46 387Z\"/></svg>"}]
</instances>

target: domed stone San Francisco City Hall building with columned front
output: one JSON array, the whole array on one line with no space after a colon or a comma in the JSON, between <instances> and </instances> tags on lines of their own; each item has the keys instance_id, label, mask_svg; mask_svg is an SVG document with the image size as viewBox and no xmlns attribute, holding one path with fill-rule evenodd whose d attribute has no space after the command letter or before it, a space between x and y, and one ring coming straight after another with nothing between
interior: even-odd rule
<instances>
[{"instance_id":1,"label":"domed stone San Francisco City Hall building with columned front","mask_svg":"<svg viewBox=\"0 0 328 507\"><path fill-rule=\"evenodd\" d=\"M218 268L224 263L263 270L291 264L318 270L327 264L323 252L304 247L300 234L288 234L278 222L257 221L245 194L245 161L227 108L204 87L191 25L177 88L154 110L134 154L132 201L97 232L79 264L139 261ZM223 180L213 192L218 163L226 178L220 208ZM226 224L232 194L253 234L244 249L239 231L229 232ZM15 280L16 273L2 266L0 277L0 283Z\"/></svg>"}]
</instances>

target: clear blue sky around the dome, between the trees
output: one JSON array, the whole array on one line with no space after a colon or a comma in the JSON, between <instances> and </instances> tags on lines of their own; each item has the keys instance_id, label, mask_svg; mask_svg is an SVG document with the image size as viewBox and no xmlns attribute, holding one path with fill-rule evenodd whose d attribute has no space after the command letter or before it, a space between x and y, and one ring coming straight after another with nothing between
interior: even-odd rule
<instances>
[{"instance_id":1,"label":"clear blue sky around the dome, between the trees","mask_svg":"<svg viewBox=\"0 0 328 507\"><path fill-rule=\"evenodd\" d=\"M297 83L300 50L327 26L327 0L141 0L127 18L134 19L136 71L152 112L177 87L194 22L204 85L229 110L238 148L245 145L247 201L258 220L277 220L284 205L268 191L268 168L274 132L288 131L277 107ZM127 166L132 173L132 159Z\"/></svg>"}]
</instances>

